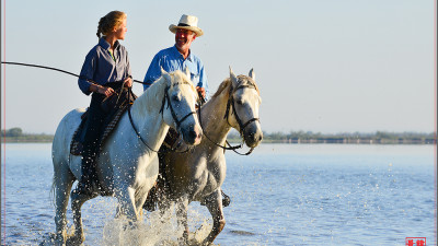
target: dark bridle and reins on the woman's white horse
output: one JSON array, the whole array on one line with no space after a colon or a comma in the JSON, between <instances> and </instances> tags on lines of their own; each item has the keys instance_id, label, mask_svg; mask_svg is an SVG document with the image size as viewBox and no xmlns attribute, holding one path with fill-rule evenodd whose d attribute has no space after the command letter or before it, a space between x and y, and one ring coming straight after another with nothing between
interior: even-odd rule
<instances>
[{"instance_id":1,"label":"dark bridle and reins on the woman's white horse","mask_svg":"<svg viewBox=\"0 0 438 246\"><path fill-rule=\"evenodd\" d=\"M184 82L173 83L172 86L180 85L180 84L189 84L189 83L186 82L186 81L184 81ZM164 118L164 116L163 116L163 114L164 114L164 105L165 105L165 103L168 103L168 108L171 109L172 118L173 118L173 120L175 121L176 129L178 130L181 124L182 124L185 119L187 119L191 115L196 115L196 112L191 112L191 113L188 113L187 115L185 115L183 118L177 119L176 113L175 113L175 110L173 109L173 106L172 106L172 103L171 103L171 98L170 98L170 96L169 96L169 89L170 89L169 85L164 89L164 96L163 96L163 101L162 101L162 104L161 104L161 108L160 108L159 114L161 114L161 117ZM132 93L130 89L129 89L129 92ZM138 137L138 138L140 139L140 141L141 141L146 147L148 147L151 151L157 152L157 153L163 153L163 152L160 152L159 150L157 151L157 150L153 150L152 148L150 148L150 147L148 145L148 143L146 143L145 139L141 137L140 132L137 130L137 128L136 128L136 126L135 126L135 124L134 124L134 120L132 120L132 116L131 116L131 114L130 114L130 106L131 106L131 104L132 104L132 103L130 103L129 106L128 106L128 115L129 115L130 125L132 126L132 129L134 129L134 131L136 132L137 137ZM188 150L189 150L189 149L187 149L187 150L185 150L185 151L183 151L183 152L178 152L178 153L184 153L184 152L187 152ZM170 150L170 151L175 151L175 150L172 149L172 150ZM165 151L165 152L168 152L168 151Z\"/></svg>"}]
</instances>

